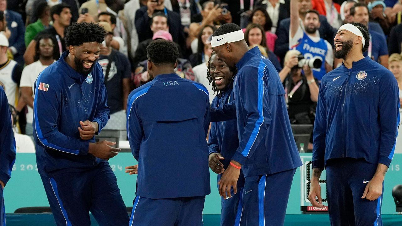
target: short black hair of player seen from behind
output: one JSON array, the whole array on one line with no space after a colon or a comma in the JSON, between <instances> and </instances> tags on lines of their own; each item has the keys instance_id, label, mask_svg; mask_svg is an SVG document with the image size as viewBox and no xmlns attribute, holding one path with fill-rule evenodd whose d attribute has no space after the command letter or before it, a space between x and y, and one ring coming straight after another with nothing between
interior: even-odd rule
<instances>
[{"instance_id":1,"label":"short black hair of player seen from behind","mask_svg":"<svg viewBox=\"0 0 402 226\"><path fill-rule=\"evenodd\" d=\"M171 41L156 39L147 46L148 60L157 66L176 63L178 55L178 49Z\"/></svg>"}]
</instances>

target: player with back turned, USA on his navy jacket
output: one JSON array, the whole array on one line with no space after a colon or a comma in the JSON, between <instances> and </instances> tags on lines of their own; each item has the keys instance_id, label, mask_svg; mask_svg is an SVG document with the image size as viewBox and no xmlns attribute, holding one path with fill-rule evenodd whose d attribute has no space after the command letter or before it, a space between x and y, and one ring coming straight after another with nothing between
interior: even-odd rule
<instances>
[{"instance_id":1,"label":"player with back turned, USA on his navy jacket","mask_svg":"<svg viewBox=\"0 0 402 226\"><path fill-rule=\"evenodd\" d=\"M127 135L138 161L130 226L202 226L210 193L207 89L174 73L178 49L158 39L147 47L153 79L133 90Z\"/></svg>"}]
</instances>

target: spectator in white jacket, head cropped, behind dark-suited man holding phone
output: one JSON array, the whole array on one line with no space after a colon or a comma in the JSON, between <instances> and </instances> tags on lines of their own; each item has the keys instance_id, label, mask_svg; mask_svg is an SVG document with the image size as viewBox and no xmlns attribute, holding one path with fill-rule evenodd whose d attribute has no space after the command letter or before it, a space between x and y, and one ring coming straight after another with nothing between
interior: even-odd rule
<instances>
[{"instance_id":1,"label":"spectator in white jacket, head cropped, behind dark-suited man holding phone","mask_svg":"<svg viewBox=\"0 0 402 226\"><path fill-rule=\"evenodd\" d=\"M130 58L134 58L135 50L138 46L138 34L135 28L135 12L143 6L147 5L148 0L129 0L124 4L124 16L127 19L127 31L130 39L127 41L127 47L129 46ZM172 10L172 3L170 1L164 1L164 6L168 10Z\"/></svg>"}]
</instances>

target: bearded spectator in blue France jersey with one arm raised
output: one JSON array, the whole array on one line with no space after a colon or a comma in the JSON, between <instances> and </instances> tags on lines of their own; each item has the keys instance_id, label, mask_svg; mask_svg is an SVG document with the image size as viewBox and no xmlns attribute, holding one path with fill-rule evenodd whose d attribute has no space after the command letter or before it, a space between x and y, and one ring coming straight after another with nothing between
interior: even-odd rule
<instances>
[{"instance_id":1,"label":"bearded spectator in blue France jersey with one arm raised","mask_svg":"<svg viewBox=\"0 0 402 226\"><path fill-rule=\"evenodd\" d=\"M308 10L304 16L303 26L300 26L296 1L290 1L289 49L297 49L306 59L320 58L321 67L313 68L314 77L320 81L326 73L332 70L334 64L332 46L317 34L320 27L320 14L316 10Z\"/></svg>"}]
</instances>

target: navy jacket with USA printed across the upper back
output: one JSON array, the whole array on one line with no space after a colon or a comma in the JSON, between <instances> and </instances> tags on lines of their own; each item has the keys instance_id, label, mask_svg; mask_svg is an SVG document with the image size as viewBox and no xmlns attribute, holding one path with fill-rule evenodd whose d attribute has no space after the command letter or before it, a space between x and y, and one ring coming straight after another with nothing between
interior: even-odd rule
<instances>
[{"instance_id":1,"label":"navy jacket with USA printed across the upper back","mask_svg":"<svg viewBox=\"0 0 402 226\"><path fill-rule=\"evenodd\" d=\"M164 199L210 193L207 89L177 74L161 74L133 90L127 135L138 161L140 197Z\"/></svg>"}]
</instances>

